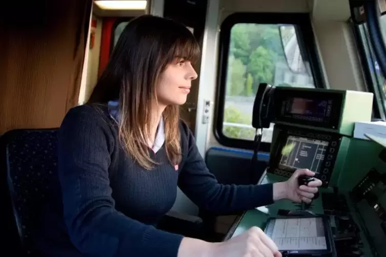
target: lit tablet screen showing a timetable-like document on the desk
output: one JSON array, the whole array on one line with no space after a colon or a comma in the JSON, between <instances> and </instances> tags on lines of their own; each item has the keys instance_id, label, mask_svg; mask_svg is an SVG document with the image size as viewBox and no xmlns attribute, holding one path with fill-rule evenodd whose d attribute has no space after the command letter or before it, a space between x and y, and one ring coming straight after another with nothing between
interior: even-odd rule
<instances>
[{"instance_id":1,"label":"lit tablet screen showing a timetable-like document on the desk","mask_svg":"<svg viewBox=\"0 0 386 257\"><path fill-rule=\"evenodd\" d=\"M322 218L276 219L272 240L279 250L326 250Z\"/></svg>"}]
</instances>

